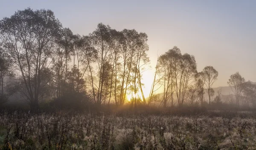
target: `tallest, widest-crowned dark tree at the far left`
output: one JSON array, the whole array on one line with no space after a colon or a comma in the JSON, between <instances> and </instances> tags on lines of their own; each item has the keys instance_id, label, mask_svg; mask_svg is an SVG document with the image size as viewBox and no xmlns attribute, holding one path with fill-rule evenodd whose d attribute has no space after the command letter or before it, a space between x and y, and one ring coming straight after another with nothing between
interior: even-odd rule
<instances>
[{"instance_id":1,"label":"tallest, widest-crowned dark tree at the far left","mask_svg":"<svg viewBox=\"0 0 256 150\"><path fill-rule=\"evenodd\" d=\"M54 57L61 23L50 10L27 8L0 21L3 47L21 75L32 111L38 110L42 89L49 83L47 69ZM50 77L49 79L52 79ZM42 80L45 80L42 83Z\"/></svg>"}]
</instances>

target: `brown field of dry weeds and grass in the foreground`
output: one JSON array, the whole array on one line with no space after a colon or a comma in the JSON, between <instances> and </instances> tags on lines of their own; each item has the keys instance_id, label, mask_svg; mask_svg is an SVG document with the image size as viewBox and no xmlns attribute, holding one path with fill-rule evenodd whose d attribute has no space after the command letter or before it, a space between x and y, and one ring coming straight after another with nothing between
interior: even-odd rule
<instances>
[{"instance_id":1,"label":"brown field of dry weeds and grass in the foreground","mask_svg":"<svg viewBox=\"0 0 256 150\"><path fill-rule=\"evenodd\" d=\"M255 150L253 112L0 113L0 150Z\"/></svg>"}]
</instances>

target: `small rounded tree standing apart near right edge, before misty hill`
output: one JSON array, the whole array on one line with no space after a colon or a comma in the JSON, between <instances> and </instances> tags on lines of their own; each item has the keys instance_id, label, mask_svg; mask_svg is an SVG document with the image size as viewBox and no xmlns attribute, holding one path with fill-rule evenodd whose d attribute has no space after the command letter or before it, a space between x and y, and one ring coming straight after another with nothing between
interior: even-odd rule
<instances>
[{"instance_id":1,"label":"small rounded tree standing apart near right edge, before misty hill","mask_svg":"<svg viewBox=\"0 0 256 150\"><path fill-rule=\"evenodd\" d=\"M230 86L231 90L235 94L237 107L239 107L239 99L241 97L244 82L245 79L239 74L239 72L232 74L227 82L227 84Z\"/></svg>"}]
</instances>

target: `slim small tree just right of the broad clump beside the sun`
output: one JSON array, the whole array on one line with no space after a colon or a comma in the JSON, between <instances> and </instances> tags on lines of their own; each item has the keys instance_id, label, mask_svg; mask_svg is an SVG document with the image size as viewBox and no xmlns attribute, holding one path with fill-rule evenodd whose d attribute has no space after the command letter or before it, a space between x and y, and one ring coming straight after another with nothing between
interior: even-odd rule
<instances>
[{"instance_id":1,"label":"slim small tree just right of the broad clump beside the sun","mask_svg":"<svg viewBox=\"0 0 256 150\"><path fill-rule=\"evenodd\" d=\"M207 87L207 92L209 96L209 105L211 104L211 96L210 96L210 90L212 88L213 83L217 80L218 77L218 71L215 70L212 66L206 66L203 71L203 78L205 81L205 85ZM213 93L214 94L214 93Z\"/></svg>"}]
</instances>

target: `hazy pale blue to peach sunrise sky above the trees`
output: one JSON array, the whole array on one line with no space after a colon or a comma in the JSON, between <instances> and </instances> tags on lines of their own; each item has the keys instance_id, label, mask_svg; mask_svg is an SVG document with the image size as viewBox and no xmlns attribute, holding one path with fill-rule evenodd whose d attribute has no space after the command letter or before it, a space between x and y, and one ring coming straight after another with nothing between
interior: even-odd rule
<instances>
[{"instance_id":1,"label":"hazy pale blue to peach sunrise sky above the trees","mask_svg":"<svg viewBox=\"0 0 256 150\"><path fill-rule=\"evenodd\" d=\"M157 51L176 45L195 56L198 71L212 65L219 72L213 87L227 86L236 71L256 82L256 0L0 0L0 18L27 7L51 9L75 34L100 22L145 32L152 68Z\"/></svg>"}]
</instances>

